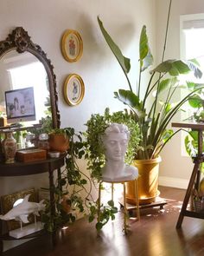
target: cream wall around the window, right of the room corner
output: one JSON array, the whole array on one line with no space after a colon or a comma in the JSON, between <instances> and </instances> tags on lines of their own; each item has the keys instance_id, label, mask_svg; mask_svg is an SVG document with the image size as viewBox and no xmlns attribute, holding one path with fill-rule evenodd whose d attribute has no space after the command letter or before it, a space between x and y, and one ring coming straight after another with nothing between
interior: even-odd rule
<instances>
[{"instance_id":1,"label":"cream wall around the window, right of the room corner","mask_svg":"<svg viewBox=\"0 0 204 256\"><path fill-rule=\"evenodd\" d=\"M161 59L163 49L166 10L169 0L156 0L156 53L158 60ZM166 50L166 59L180 57L180 15L204 12L202 0L173 0L169 22L169 36ZM174 121L181 121L180 117ZM163 162L160 171L160 184L171 187L186 187L192 173L192 161L187 156L181 155L181 134L176 135L163 150Z\"/></svg>"}]
</instances>

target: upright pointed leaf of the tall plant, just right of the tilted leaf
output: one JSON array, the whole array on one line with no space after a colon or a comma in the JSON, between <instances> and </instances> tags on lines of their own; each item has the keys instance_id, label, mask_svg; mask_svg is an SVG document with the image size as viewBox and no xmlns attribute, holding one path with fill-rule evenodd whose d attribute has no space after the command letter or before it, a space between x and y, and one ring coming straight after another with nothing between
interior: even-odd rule
<instances>
[{"instance_id":1,"label":"upright pointed leaf of the tall plant, just right of the tilted leaf","mask_svg":"<svg viewBox=\"0 0 204 256\"><path fill-rule=\"evenodd\" d=\"M153 56L151 55L151 52L150 52L148 37L146 34L146 26L143 26L143 29L140 34L139 61L140 61L140 69L142 71L149 68L153 62Z\"/></svg>"}]
</instances>

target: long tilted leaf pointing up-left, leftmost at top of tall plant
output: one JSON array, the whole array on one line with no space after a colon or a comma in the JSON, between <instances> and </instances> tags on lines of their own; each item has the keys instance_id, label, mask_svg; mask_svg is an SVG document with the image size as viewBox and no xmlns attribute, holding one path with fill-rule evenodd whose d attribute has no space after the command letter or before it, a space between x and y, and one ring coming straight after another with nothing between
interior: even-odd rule
<instances>
[{"instance_id":1,"label":"long tilted leaf pointing up-left, leftmost at top of tall plant","mask_svg":"<svg viewBox=\"0 0 204 256\"><path fill-rule=\"evenodd\" d=\"M116 56L121 68L124 70L124 73L127 74L131 69L130 59L123 56L121 50L118 48L118 45L113 42L112 37L105 30L103 23L99 19L99 16L98 16L98 23L99 23L100 30L103 36L105 37L106 43L109 45L110 49L112 49L112 53L114 54L114 56Z\"/></svg>"}]
</instances>

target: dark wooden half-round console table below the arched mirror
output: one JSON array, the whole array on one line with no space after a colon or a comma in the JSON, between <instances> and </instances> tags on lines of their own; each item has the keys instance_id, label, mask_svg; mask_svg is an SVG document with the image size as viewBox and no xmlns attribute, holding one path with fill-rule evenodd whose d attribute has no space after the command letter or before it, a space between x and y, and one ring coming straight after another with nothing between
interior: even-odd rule
<instances>
[{"instance_id":1,"label":"dark wooden half-round console table below the arched mirror","mask_svg":"<svg viewBox=\"0 0 204 256\"><path fill-rule=\"evenodd\" d=\"M59 158L52 158L43 161L32 161L32 162L15 162L10 164L5 164L0 162L0 176L22 176L22 175L32 175L41 174L48 172L49 188L50 188L50 213L54 215L54 171L57 170L58 178L61 178L61 167L65 163L65 154L62 154ZM2 221L0 221L0 230L2 231ZM34 235L29 235L23 237L22 239L35 237ZM9 236L9 234L3 234L0 236L0 254L3 253L3 240L16 240Z\"/></svg>"}]
</instances>

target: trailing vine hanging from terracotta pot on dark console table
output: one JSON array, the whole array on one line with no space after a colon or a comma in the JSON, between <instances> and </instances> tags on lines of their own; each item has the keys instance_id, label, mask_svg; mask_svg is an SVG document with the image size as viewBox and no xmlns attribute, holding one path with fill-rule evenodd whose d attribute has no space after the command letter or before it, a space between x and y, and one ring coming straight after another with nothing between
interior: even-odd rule
<instances>
[{"instance_id":1,"label":"trailing vine hanging from terracotta pot on dark console table","mask_svg":"<svg viewBox=\"0 0 204 256\"><path fill-rule=\"evenodd\" d=\"M47 207L42 213L41 221L45 229L54 232L56 229L67 226L76 220L76 213L84 213L86 200L91 197L91 188L87 191L86 183L89 178L80 171L77 161L83 157L84 142L81 134L77 134L73 128L63 128L58 132L66 133L69 137L70 148L67 151L66 165L61 172L61 178L58 178L54 189L55 214L50 214L50 202L47 201ZM85 199L81 194L85 194ZM67 208L69 211L67 212Z\"/></svg>"}]
</instances>

